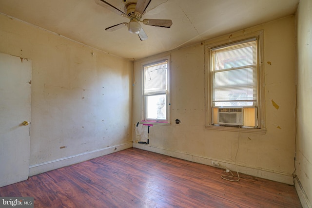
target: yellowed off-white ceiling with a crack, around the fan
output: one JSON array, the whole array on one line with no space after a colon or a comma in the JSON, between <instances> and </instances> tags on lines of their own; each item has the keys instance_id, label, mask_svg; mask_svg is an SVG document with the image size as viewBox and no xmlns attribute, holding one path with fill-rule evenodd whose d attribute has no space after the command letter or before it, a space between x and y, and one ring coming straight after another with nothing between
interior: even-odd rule
<instances>
[{"instance_id":1,"label":"yellowed off-white ceiling with a crack, around the fan","mask_svg":"<svg viewBox=\"0 0 312 208\"><path fill-rule=\"evenodd\" d=\"M123 0L106 0L124 11ZM143 58L294 14L299 0L152 0L142 19L172 19L171 28L143 25L141 41L129 20L94 0L0 0L0 12L124 58Z\"/></svg>"}]
</instances>

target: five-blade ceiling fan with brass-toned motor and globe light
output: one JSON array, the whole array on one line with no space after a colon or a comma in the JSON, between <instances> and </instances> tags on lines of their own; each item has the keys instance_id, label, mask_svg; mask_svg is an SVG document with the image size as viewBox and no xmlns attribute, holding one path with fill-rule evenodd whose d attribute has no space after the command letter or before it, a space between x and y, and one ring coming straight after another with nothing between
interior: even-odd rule
<instances>
[{"instance_id":1,"label":"five-blade ceiling fan with brass-toned motor and globe light","mask_svg":"<svg viewBox=\"0 0 312 208\"><path fill-rule=\"evenodd\" d=\"M172 25L171 19L143 19L142 15L144 14L146 8L150 4L151 0L137 0L137 2L133 1L125 4L125 12L120 11L112 4L106 2L105 0L95 0L96 3L100 6L103 6L112 12L117 13L118 15L130 19L129 22L122 22L120 24L113 25L111 27L106 28L106 31L115 31L124 26L128 26L128 31L132 34L137 34L141 40L146 40L148 37L141 27L140 22L146 25L152 25L156 27L167 27L170 28ZM126 2L127 0L123 0Z\"/></svg>"}]
</instances>

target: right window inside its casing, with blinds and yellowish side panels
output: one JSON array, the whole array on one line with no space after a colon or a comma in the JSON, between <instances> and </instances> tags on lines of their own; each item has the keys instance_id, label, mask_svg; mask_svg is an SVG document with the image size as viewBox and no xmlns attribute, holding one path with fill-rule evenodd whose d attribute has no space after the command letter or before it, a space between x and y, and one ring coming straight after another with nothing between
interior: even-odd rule
<instances>
[{"instance_id":1,"label":"right window inside its casing, with blinds and yellowish side panels","mask_svg":"<svg viewBox=\"0 0 312 208\"><path fill-rule=\"evenodd\" d=\"M234 124L257 127L257 57L256 38L210 49L213 124L222 123L218 112L224 115L225 110L220 109L236 108L241 109L242 120Z\"/></svg>"}]
</instances>

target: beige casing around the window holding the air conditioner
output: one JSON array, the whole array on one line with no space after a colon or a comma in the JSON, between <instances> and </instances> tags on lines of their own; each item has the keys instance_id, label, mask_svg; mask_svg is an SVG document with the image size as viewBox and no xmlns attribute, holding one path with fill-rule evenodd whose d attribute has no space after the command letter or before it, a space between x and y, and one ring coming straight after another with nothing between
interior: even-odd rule
<instances>
[{"instance_id":1,"label":"beige casing around the window holding the air conditioner","mask_svg":"<svg viewBox=\"0 0 312 208\"><path fill-rule=\"evenodd\" d=\"M222 131L234 131L234 132L253 132L265 134L265 82L264 82L264 47L263 47L263 31L256 31L253 33L245 34L243 36L223 36L221 38L212 39L204 43L205 47L205 96L206 96L206 129L222 130ZM231 38L229 38L231 37ZM239 42L243 42L248 39L257 39L257 128L244 128L244 127L231 127L231 126L217 126L213 125L212 117L212 73L211 73L211 49L217 47L223 47Z\"/></svg>"}]
</instances>

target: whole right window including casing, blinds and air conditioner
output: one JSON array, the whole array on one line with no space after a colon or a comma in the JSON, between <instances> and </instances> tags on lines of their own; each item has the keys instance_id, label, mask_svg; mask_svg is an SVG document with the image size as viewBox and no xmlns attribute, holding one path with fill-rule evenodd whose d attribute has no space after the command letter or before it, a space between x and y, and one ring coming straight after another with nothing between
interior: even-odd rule
<instances>
[{"instance_id":1,"label":"whole right window including casing, blinds and air conditioner","mask_svg":"<svg viewBox=\"0 0 312 208\"><path fill-rule=\"evenodd\" d=\"M206 46L208 126L264 129L261 37Z\"/></svg>"}]
</instances>

